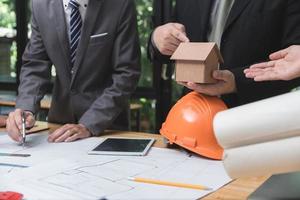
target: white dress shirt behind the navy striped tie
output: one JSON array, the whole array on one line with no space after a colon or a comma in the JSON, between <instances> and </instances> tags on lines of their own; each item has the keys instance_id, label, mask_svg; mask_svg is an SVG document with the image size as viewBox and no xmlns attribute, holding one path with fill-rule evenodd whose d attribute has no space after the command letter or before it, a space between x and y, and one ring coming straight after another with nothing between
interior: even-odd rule
<instances>
[{"instance_id":1,"label":"white dress shirt behind the navy striped tie","mask_svg":"<svg viewBox=\"0 0 300 200\"><path fill-rule=\"evenodd\" d=\"M69 35L69 40L71 38L70 36L70 16L71 16L71 8L69 6L69 1L70 0L63 0L63 6L64 6L64 11L65 11L65 16L66 16L66 25L67 25L67 31ZM79 12L81 15L82 22L84 21L85 14L86 14L86 9L89 4L89 0L76 0L76 2L80 5L79 6Z\"/></svg>"}]
</instances>

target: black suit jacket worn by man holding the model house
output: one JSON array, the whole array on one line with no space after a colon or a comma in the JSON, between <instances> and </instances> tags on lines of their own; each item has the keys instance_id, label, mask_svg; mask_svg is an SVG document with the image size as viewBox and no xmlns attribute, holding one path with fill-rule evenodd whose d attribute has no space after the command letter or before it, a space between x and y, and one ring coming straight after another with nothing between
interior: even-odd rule
<instances>
[{"instance_id":1,"label":"black suit jacket worn by man holding the model house","mask_svg":"<svg viewBox=\"0 0 300 200\"><path fill-rule=\"evenodd\" d=\"M212 0L177 0L175 20L186 27L192 42L207 41ZM238 106L288 92L300 80L257 83L245 78L243 70L268 60L274 51L300 44L299 0L235 0L221 40L224 65L234 73L237 93L223 95L228 106ZM152 59L167 61L153 47Z\"/></svg>"}]
</instances>

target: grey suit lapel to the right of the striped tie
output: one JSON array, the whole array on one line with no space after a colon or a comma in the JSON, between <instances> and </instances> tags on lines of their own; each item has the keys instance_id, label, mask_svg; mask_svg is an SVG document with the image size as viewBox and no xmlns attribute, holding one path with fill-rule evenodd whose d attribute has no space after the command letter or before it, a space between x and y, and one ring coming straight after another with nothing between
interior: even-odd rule
<instances>
[{"instance_id":1,"label":"grey suit lapel to the right of the striped tie","mask_svg":"<svg viewBox=\"0 0 300 200\"><path fill-rule=\"evenodd\" d=\"M93 31L93 28L95 26L95 22L97 20L97 16L99 14L101 5L103 0L90 0L88 4L88 8L86 10L85 19L82 26L81 36L80 36L80 42L78 45L77 53L76 53L76 60L74 63L74 70L75 74L72 78L72 82L74 81L75 75L78 71L78 68L80 67L82 63L82 59L85 56L87 46L89 44L90 35Z\"/></svg>"}]
</instances>

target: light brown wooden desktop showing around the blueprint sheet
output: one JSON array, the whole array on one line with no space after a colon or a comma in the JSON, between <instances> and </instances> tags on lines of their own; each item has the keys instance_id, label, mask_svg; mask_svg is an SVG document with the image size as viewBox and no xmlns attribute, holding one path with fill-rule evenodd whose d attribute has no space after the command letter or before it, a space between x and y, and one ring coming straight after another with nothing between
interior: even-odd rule
<instances>
[{"instance_id":1,"label":"light brown wooden desktop showing around the blueprint sheet","mask_svg":"<svg viewBox=\"0 0 300 200\"><path fill-rule=\"evenodd\" d=\"M58 126L49 124L50 130L55 130ZM120 131L107 131L101 137L107 136L124 136L124 137L151 137L155 138L155 147L165 148L163 137L157 134L138 133L138 132L120 132ZM256 190L263 182L265 182L270 176L258 177L258 178L245 178L237 179L222 187L218 191L202 198L204 200L235 200L235 199L247 199L247 197Z\"/></svg>"}]
</instances>

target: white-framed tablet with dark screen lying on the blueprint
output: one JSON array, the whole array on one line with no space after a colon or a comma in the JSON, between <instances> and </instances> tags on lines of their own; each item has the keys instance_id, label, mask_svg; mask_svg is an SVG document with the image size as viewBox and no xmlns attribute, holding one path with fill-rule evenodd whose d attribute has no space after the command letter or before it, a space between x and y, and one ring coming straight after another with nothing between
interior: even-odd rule
<instances>
[{"instance_id":1,"label":"white-framed tablet with dark screen lying on the blueprint","mask_svg":"<svg viewBox=\"0 0 300 200\"><path fill-rule=\"evenodd\" d=\"M152 138L106 138L88 154L144 156L154 141Z\"/></svg>"}]
</instances>

